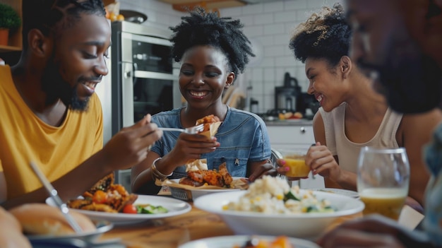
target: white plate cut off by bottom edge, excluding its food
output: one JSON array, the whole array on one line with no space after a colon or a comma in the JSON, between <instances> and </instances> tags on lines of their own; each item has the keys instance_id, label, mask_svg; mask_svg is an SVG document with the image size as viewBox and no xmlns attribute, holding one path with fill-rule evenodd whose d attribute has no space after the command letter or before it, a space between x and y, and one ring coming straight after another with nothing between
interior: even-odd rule
<instances>
[{"instance_id":1,"label":"white plate cut off by bottom edge, excluding its food","mask_svg":"<svg viewBox=\"0 0 442 248\"><path fill-rule=\"evenodd\" d=\"M275 240L276 236L258 236L253 235L260 240ZM201 240L193 240L186 244L181 244L178 248L232 248L235 245L242 247L248 240L250 235L235 235L235 236L220 236L220 237L208 237ZM290 244L297 248L320 248L317 244L309 240L301 240L294 237L288 237Z\"/></svg>"}]
</instances>

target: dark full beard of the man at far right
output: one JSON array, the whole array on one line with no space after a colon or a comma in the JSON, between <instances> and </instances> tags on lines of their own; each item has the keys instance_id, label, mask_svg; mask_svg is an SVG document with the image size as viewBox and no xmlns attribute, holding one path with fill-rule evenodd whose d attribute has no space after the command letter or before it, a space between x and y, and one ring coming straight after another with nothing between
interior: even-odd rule
<instances>
[{"instance_id":1,"label":"dark full beard of the man at far right","mask_svg":"<svg viewBox=\"0 0 442 248\"><path fill-rule=\"evenodd\" d=\"M434 59L418 49L406 54L390 52L382 66L359 60L358 64L377 74L378 92L386 95L396 112L421 113L438 107L441 102L441 68Z\"/></svg>"}]
</instances>

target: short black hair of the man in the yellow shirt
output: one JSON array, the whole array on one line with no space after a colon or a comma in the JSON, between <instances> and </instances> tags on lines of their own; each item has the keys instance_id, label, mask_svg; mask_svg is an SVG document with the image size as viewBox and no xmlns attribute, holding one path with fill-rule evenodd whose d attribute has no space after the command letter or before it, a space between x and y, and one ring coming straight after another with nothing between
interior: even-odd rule
<instances>
[{"instance_id":1,"label":"short black hair of the man in the yellow shirt","mask_svg":"<svg viewBox=\"0 0 442 248\"><path fill-rule=\"evenodd\" d=\"M102 0L23 0L23 49L28 48L28 33L37 28L44 35L63 30L80 18L80 13L105 16Z\"/></svg>"}]
</instances>

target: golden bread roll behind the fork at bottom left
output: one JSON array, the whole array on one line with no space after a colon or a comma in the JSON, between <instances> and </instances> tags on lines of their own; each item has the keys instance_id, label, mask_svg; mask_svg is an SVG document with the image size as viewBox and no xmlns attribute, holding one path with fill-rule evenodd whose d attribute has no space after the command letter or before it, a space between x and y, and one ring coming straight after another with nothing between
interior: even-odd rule
<instances>
[{"instance_id":1,"label":"golden bread roll behind the fork at bottom left","mask_svg":"<svg viewBox=\"0 0 442 248\"><path fill-rule=\"evenodd\" d=\"M26 235L71 235L75 231L68 224L68 221L55 206L44 203L26 203L9 211L16 217L23 226ZM76 220L83 232L94 232L97 230L92 220L86 215L71 211L69 214Z\"/></svg>"}]
</instances>

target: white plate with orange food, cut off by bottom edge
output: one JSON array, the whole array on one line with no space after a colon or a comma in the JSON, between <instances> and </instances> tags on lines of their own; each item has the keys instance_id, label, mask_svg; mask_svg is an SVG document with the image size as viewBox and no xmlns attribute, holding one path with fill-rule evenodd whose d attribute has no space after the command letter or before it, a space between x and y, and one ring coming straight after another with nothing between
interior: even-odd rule
<instances>
[{"instance_id":1,"label":"white plate with orange food, cut off by bottom edge","mask_svg":"<svg viewBox=\"0 0 442 248\"><path fill-rule=\"evenodd\" d=\"M283 244L283 245L282 245ZM309 240L301 240L287 236L262 236L262 235L232 235L208 237L181 244L178 248L210 247L210 248L319 248Z\"/></svg>"}]
</instances>

